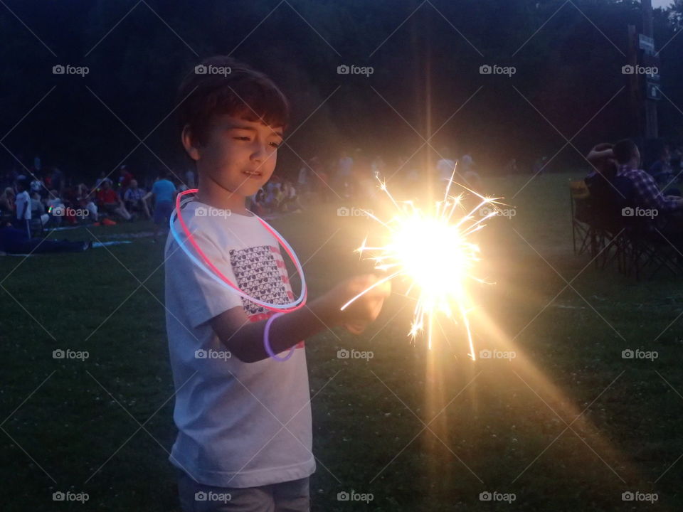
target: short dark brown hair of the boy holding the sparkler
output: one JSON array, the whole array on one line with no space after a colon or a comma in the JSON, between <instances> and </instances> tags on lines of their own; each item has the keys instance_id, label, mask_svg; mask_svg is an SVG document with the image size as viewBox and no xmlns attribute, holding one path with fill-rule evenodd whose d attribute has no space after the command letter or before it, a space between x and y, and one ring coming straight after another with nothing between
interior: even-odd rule
<instances>
[{"instance_id":1,"label":"short dark brown hair of the boy holding the sparkler","mask_svg":"<svg viewBox=\"0 0 683 512\"><path fill-rule=\"evenodd\" d=\"M271 127L287 126L287 98L270 78L226 55L205 58L181 82L176 98L179 129L186 125L194 144L203 146L211 124L231 115Z\"/></svg>"}]
</instances>

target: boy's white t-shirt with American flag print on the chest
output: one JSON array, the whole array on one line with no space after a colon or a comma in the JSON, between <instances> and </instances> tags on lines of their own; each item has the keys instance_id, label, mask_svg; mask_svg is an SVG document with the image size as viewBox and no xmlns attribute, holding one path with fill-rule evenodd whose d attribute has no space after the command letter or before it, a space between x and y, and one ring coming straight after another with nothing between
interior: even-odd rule
<instances>
[{"instance_id":1,"label":"boy's white t-shirt with American flag print on the chest","mask_svg":"<svg viewBox=\"0 0 683 512\"><path fill-rule=\"evenodd\" d=\"M228 211L192 201L182 215L201 250L238 287L265 302L292 302L277 240L257 217ZM175 225L184 239L179 221ZM179 430L171 463L209 486L244 488L305 478L315 471L315 461L304 343L285 362L228 357L208 321L236 306L250 321L272 315L211 279L169 233L166 330Z\"/></svg>"}]
</instances>

